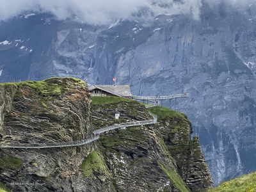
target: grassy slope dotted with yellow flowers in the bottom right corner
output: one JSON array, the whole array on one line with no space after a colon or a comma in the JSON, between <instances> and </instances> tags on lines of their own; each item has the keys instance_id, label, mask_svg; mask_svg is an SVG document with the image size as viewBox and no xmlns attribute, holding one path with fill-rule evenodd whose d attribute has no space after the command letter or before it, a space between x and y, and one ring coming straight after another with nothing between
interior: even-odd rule
<instances>
[{"instance_id":1,"label":"grassy slope dotted with yellow flowers in the bottom right corner","mask_svg":"<svg viewBox=\"0 0 256 192\"><path fill-rule=\"evenodd\" d=\"M209 190L208 192L250 192L256 191L256 172L243 175L234 180L224 182L218 188Z\"/></svg>"}]
</instances>

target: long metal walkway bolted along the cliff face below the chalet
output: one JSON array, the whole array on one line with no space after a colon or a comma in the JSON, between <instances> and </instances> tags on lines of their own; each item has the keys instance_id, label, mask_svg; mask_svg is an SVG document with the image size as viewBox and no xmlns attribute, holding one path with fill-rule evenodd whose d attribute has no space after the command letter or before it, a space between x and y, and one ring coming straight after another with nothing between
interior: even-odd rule
<instances>
[{"instance_id":1,"label":"long metal walkway bolted along the cliff face below the chalet","mask_svg":"<svg viewBox=\"0 0 256 192\"><path fill-rule=\"evenodd\" d=\"M150 112L149 112L150 113ZM129 122L124 124L116 124L111 125L108 127L104 127L102 129L97 129L93 131L93 134L95 133L102 133L111 131L113 129L118 129L120 127L131 127L131 126L139 126L139 125L150 125L150 124L156 124L157 122L157 115L154 115L153 113L150 113L150 115L153 116L153 120L145 120L145 121L139 121L139 122ZM68 141L68 142L54 142L54 143L20 143L16 145L0 145L0 148L56 148L56 147L75 147L75 146L81 146L86 145L88 143L92 143L95 140L99 140L99 135L94 136L92 138L88 138L86 140L82 141Z\"/></svg>"}]
</instances>

